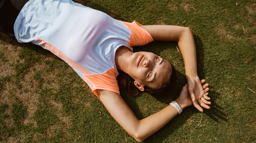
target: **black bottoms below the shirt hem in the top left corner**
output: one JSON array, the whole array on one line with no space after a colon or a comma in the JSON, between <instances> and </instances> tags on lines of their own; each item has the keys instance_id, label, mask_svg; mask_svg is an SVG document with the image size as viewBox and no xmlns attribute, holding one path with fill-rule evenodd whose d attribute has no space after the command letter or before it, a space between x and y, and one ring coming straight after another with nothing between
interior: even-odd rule
<instances>
[{"instance_id":1,"label":"black bottoms below the shirt hem in the top left corner","mask_svg":"<svg viewBox=\"0 0 256 143\"><path fill-rule=\"evenodd\" d=\"M13 25L20 10L29 0L0 0L0 31L14 35Z\"/></svg>"}]
</instances>

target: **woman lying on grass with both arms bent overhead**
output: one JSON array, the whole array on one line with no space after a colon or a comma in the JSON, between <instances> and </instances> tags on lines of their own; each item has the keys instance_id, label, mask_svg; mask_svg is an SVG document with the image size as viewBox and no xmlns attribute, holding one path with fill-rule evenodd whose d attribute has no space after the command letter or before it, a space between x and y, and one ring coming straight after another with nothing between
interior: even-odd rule
<instances>
[{"instance_id":1,"label":"woman lying on grass with both arms bent overhead","mask_svg":"<svg viewBox=\"0 0 256 143\"><path fill-rule=\"evenodd\" d=\"M31 0L21 9L14 34L19 42L40 45L66 61L137 141L158 131L187 106L194 104L200 111L210 108L206 105L210 104L208 84L202 86L205 80L197 76L196 49L189 28L122 22L71 0ZM178 42L188 83L175 102L139 120L120 96L117 70L133 78L141 91L168 88L175 78L172 64L153 53L132 52L133 46L153 40Z\"/></svg>"}]
</instances>

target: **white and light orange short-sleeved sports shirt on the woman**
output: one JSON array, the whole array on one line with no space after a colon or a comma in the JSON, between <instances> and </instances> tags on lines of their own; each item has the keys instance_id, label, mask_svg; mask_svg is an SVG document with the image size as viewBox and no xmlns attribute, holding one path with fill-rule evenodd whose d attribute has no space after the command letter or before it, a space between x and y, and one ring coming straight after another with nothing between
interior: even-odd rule
<instances>
[{"instance_id":1,"label":"white and light orange short-sleeved sports shirt on the woman","mask_svg":"<svg viewBox=\"0 0 256 143\"><path fill-rule=\"evenodd\" d=\"M67 62L96 94L119 93L115 53L120 46L153 38L137 22L127 23L71 0L30 0L14 24L19 42L32 42Z\"/></svg>"}]
</instances>

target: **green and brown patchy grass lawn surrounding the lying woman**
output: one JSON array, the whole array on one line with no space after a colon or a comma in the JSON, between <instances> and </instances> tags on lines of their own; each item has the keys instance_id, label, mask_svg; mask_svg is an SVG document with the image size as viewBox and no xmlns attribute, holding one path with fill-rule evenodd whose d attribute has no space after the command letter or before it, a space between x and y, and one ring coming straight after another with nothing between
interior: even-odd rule
<instances>
[{"instance_id":1,"label":"green and brown patchy grass lawn surrounding the lying woman","mask_svg":"<svg viewBox=\"0 0 256 143\"><path fill-rule=\"evenodd\" d=\"M144 142L255 142L256 3L205 0L77 0L112 17L193 29L198 74L210 85L211 109L186 108ZM238 6L236 6L238 3ZM173 93L121 96L139 119L178 97L184 63L175 42L135 47L170 60L178 71ZM0 142L136 142L86 83L47 50L0 34Z\"/></svg>"}]
</instances>

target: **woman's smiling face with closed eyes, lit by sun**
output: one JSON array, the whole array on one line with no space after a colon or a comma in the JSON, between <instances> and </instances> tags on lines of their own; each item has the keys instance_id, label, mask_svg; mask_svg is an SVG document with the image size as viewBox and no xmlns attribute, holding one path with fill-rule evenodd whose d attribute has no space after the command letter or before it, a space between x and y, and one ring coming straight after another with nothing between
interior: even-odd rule
<instances>
[{"instance_id":1,"label":"woman's smiling face with closed eyes, lit by sun","mask_svg":"<svg viewBox=\"0 0 256 143\"><path fill-rule=\"evenodd\" d=\"M160 87L172 73L171 64L150 52L136 52L129 63L130 76L141 85Z\"/></svg>"}]
</instances>

